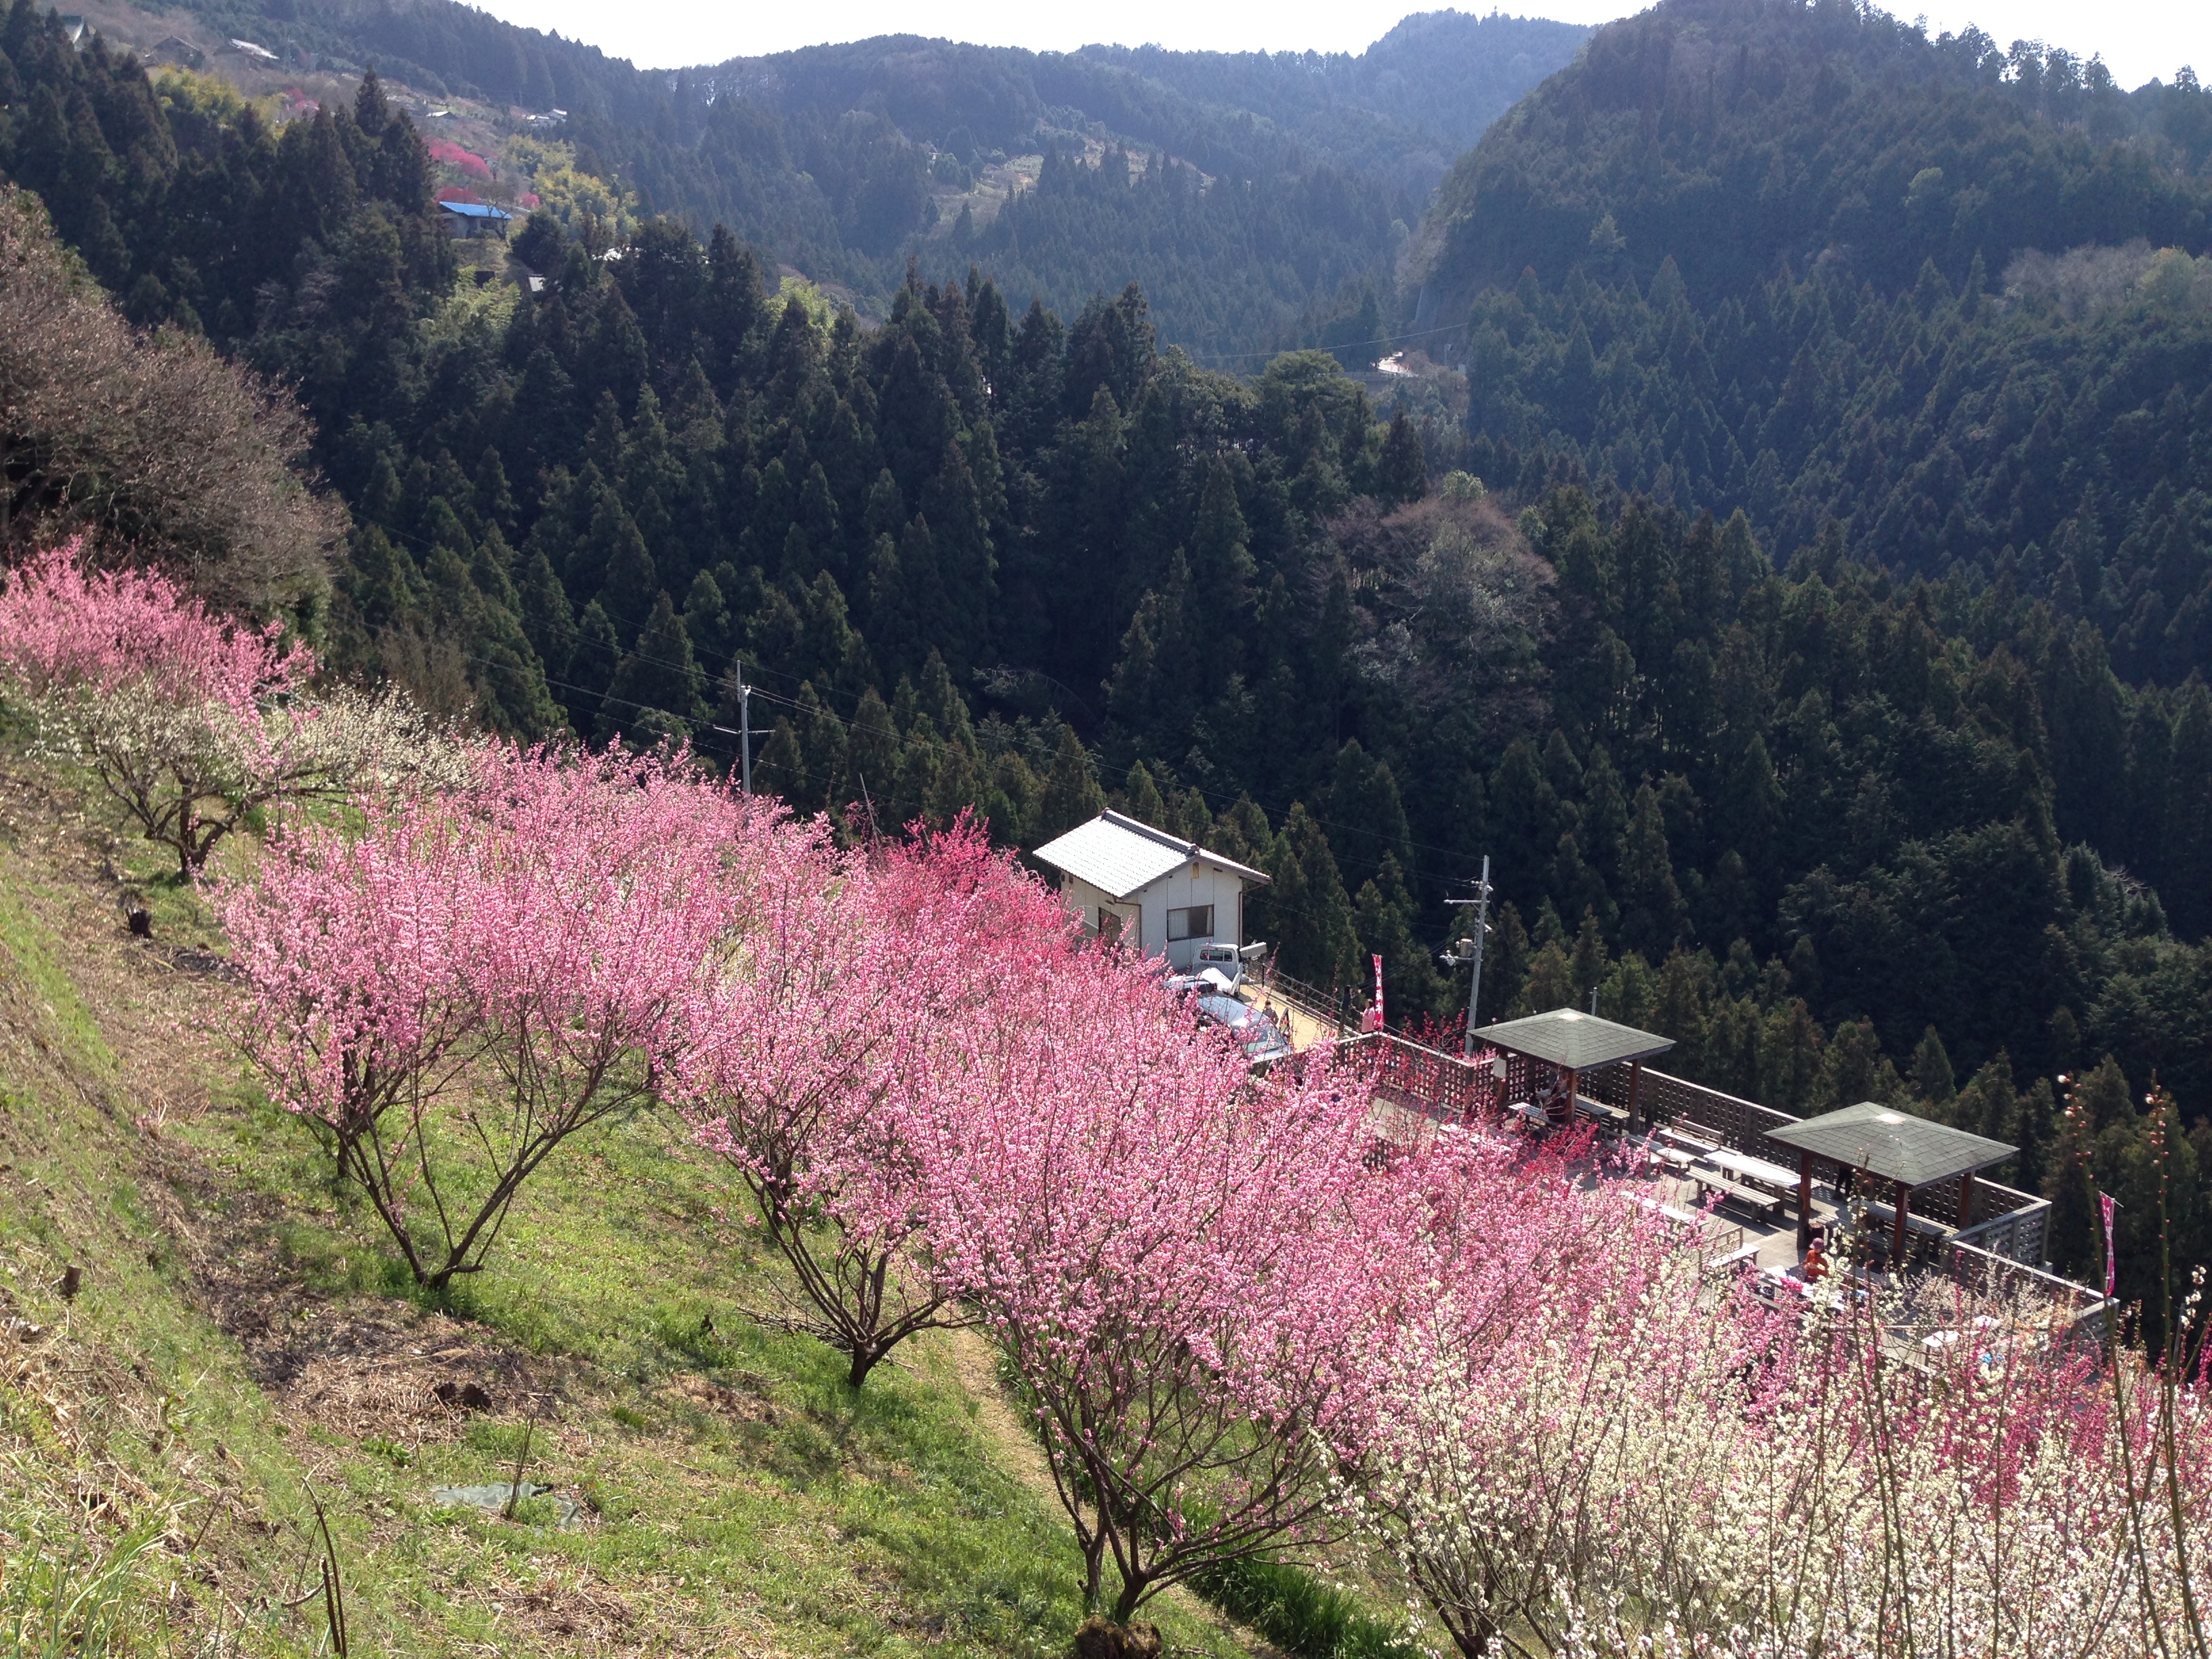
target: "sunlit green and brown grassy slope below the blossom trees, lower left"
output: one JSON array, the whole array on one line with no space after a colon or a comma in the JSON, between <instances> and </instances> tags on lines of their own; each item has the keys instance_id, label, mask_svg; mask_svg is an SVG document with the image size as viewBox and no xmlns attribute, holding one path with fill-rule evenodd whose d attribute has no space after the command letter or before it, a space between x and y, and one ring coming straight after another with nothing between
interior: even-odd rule
<instances>
[{"instance_id":1,"label":"sunlit green and brown grassy slope below the blossom trees, lower left","mask_svg":"<svg viewBox=\"0 0 2212 1659\"><path fill-rule=\"evenodd\" d=\"M312 1480L356 1652L1068 1650L1077 1555L973 1338L849 1396L745 1316L776 1270L659 1119L557 1157L493 1272L427 1310L204 1035L228 989L197 902L150 885L155 942L126 936L115 876L155 867L0 770L0 1325L44 1327L0 1334L0 1613L153 1537L115 1579L148 1648L312 1650L319 1610L281 1606L314 1582ZM577 1524L431 1502L511 1471L529 1420ZM1183 1597L1157 1617L1177 1652L1250 1650Z\"/></svg>"}]
</instances>

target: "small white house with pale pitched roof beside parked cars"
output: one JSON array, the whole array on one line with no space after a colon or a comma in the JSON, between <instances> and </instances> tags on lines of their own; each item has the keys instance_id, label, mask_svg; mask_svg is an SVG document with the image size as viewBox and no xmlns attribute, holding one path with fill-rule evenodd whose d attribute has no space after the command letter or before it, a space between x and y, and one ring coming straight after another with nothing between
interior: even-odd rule
<instances>
[{"instance_id":1,"label":"small white house with pale pitched roof beside parked cars","mask_svg":"<svg viewBox=\"0 0 2212 1659\"><path fill-rule=\"evenodd\" d=\"M1181 971L1199 945L1243 945L1245 887L1267 874L1121 812L1102 812L1035 856L1060 872L1060 896L1084 927L1166 953Z\"/></svg>"}]
</instances>

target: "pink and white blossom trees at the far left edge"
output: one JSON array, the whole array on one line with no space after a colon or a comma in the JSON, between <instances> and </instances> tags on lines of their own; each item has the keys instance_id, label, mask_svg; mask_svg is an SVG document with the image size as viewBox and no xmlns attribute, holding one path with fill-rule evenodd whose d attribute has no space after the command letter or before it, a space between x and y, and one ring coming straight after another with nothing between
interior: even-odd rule
<instances>
[{"instance_id":1,"label":"pink and white blossom trees at the far left edge","mask_svg":"<svg viewBox=\"0 0 2212 1659\"><path fill-rule=\"evenodd\" d=\"M405 699L310 699L312 675L314 653L279 624L219 617L157 571L93 571L82 540L0 593L0 681L40 743L84 765L186 878L279 801L460 776L456 743Z\"/></svg>"}]
</instances>

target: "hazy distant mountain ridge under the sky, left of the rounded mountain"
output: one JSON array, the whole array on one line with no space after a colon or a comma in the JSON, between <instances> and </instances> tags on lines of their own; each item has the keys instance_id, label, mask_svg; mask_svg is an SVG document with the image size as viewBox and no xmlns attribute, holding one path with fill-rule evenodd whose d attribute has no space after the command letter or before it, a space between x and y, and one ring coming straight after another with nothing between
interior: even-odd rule
<instances>
[{"instance_id":1,"label":"hazy distant mountain ridge under the sky, left of the rounded mountain","mask_svg":"<svg viewBox=\"0 0 2212 1659\"><path fill-rule=\"evenodd\" d=\"M1387 310L1451 157L1588 35L1436 11L1356 58L885 35L653 73L449 0L188 4L290 60L562 108L586 173L701 234L726 223L865 312L909 259L933 276L980 259L1015 305L1064 314L1137 281L1161 338L1208 356Z\"/></svg>"}]
</instances>

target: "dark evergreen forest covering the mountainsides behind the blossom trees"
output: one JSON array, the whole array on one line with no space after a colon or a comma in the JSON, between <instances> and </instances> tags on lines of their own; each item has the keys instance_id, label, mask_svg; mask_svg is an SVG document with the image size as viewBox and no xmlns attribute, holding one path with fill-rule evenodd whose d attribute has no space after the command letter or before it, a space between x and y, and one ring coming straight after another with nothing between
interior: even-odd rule
<instances>
[{"instance_id":1,"label":"dark evergreen forest covering the mountainsides behind the blossom trees","mask_svg":"<svg viewBox=\"0 0 2212 1659\"><path fill-rule=\"evenodd\" d=\"M462 84L445 11L405 15ZM365 29L389 62L394 13ZM951 254L894 215L832 257L761 217L805 177L774 117L686 126L690 95L593 117L648 212L619 259L535 217L542 292L456 281L374 71L274 128L13 0L0 175L135 325L296 392L345 529L285 602L338 675L728 765L743 666L757 779L799 810L1033 847L1124 805L1274 876L1250 933L1283 971L1358 987L1380 953L1402 1024L1464 1009L1444 900L1491 856L1486 1018L1595 993L1694 1079L2015 1141L1995 1175L2057 1199L2062 1270L2121 1197L2124 1294L2154 1077L2177 1243L2212 1259L2194 77L1668 0L1440 184L1369 188L1358 133L1301 139L1292 184L1219 139L1208 175L1248 166L1305 272L1259 299L1206 292L1250 226L1141 108ZM960 95L900 119L973 150ZM757 190L701 184L717 144ZM1139 230L1166 292L1102 279ZM856 292L889 272L880 316L779 285L807 248ZM1345 374L1416 330L1464 352L1464 420ZM1206 367L1232 349L1256 372ZM11 524L51 487L22 438Z\"/></svg>"}]
</instances>

